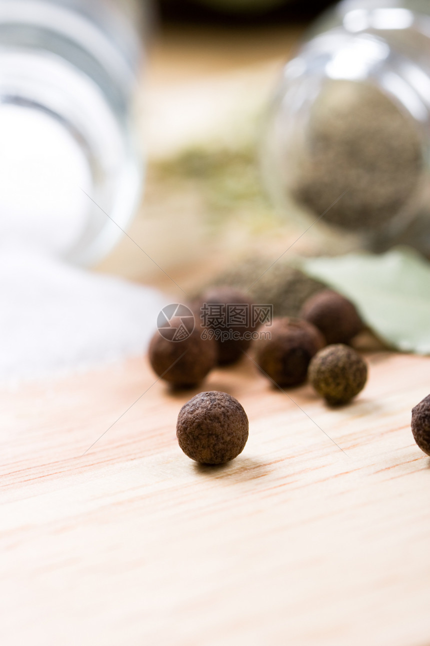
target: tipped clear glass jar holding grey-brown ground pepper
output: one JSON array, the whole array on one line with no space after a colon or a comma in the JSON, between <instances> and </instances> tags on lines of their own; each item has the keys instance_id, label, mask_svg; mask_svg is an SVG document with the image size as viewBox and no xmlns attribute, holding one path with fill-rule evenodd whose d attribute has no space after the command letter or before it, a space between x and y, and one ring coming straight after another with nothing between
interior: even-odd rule
<instances>
[{"instance_id":1,"label":"tipped clear glass jar holding grey-brown ground pepper","mask_svg":"<svg viewBox=\"0 0 430 646\"><path fill-rule=\"evenodd\" d=\"M344 0L317 21L269 108L263 166L284 212L430 255L428 0Z\"/></svg>"}]
</instances>

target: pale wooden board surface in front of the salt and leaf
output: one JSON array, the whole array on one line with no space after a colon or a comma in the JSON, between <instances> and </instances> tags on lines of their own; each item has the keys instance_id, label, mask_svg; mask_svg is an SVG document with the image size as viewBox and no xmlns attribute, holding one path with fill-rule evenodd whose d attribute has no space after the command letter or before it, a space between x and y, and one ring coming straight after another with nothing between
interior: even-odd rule
<instances>
[{"instance_id":1,"label":"pale wooden board surface in front of the salt and leaf","mask_svg":"<svg viewBox=\"0 0 430 646\"><path fill-rule=\"evenodd\" d=\"M430 360L368 359L338 410L248 360L215 371L203 390L249 416L215 468L175 438L195 391L144 359L1 393L1 643L428 644L430 461L410 412Z\"/></svg>"}]
</instances>

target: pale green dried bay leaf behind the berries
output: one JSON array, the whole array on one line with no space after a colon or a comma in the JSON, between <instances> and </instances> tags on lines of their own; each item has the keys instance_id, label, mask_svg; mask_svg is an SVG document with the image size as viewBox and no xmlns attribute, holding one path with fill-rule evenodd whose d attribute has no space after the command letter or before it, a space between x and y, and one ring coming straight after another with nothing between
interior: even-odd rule
<instances>
[{"instance_id":1,"label":"pale green dried bay leaf behind the berries","mask_svg":"<svg viewBox=\"0 0 430 646\"><path fill-rule=\"evenodd\" d=\"M430 354L430 264L415 250L306 258L300 268L349 298L390 346Z\"/></svg>"}]
</instances>

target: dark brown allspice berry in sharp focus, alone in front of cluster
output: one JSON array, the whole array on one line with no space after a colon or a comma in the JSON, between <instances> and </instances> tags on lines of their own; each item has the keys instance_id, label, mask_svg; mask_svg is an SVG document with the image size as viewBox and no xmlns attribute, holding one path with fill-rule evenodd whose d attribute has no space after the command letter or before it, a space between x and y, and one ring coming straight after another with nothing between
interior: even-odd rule
<instances>
[{"instance_id":1,"label":"dark brown allspice berry in sharp focus, alone in front of cluster","mask_svg":"<svg viewBox=\"0 0 430 646\"><path fill-rule=\"evenodd\" d=\"M192 460L224 464L244 450L248 417L228 393L199 393L182 406L176 434L182 451Z\"/></svg>"}]
</instances>

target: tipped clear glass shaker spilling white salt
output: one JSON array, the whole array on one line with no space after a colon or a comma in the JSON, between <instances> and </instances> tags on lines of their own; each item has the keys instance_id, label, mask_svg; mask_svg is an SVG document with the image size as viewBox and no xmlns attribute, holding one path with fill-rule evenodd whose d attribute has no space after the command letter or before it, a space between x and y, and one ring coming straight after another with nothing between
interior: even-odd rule
<instances>
[{"instance_id":1,"label":"tipped clear glass shaker spilling white salt","mask_svg":"<svg viewBox=\"0 0 430 646\"><path fill-rule=\"evenodd\" d=\"M0 0L2 241L27 237L92 264L132 218L142 184L130 125L142 5Z\"/></svg>"}]
</instances>

